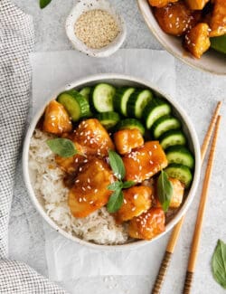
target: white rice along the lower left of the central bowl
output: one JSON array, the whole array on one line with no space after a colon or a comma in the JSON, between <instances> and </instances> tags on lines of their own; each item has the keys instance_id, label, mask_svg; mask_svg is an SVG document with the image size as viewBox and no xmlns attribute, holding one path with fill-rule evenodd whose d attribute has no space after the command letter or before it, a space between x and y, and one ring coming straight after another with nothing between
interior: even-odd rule
<instances>
[{"instance_id":1,"label":"white rice along the lower left of the central bowl","mask_svg":"<svg viewBox=\"0 0 226 294\"><path fill-rule=\"evenodd\" d=\"M69 189L63 184L64 172L54 160L46 140L52 135L35 129L29 151L29 168L33 178L35 194L42 196L47 214L64 231L80 239L99 244L121 244L127 242L127 231L118 225L105 207L85 218L71 215L67 204Z\"/></svg>"}]
</instances>

